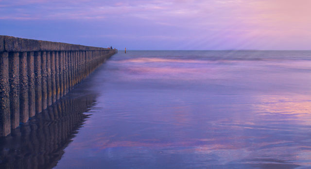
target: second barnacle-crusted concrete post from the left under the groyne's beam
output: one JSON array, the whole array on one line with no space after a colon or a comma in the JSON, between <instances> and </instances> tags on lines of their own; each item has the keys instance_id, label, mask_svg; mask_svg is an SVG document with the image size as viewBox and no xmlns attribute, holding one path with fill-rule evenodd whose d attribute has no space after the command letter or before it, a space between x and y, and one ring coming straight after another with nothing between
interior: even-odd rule
<instances>
[{"instance_id":1,"label":"second barnacle-crusted concrete post from the left under the groyne's beam","mask_svg":"<svg viewBox=\"0 0 311 169\"><path fill-rule=\"evenodd\" d=\"M9 53L11 128L19 126L19 53Z\"/></svg>"}]
</instances>

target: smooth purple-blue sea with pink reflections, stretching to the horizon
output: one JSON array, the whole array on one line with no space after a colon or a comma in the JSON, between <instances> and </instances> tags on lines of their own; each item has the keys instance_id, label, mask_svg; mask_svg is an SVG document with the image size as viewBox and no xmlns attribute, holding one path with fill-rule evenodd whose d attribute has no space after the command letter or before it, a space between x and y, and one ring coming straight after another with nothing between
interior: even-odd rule
<instances>
[{"instance_id":1,"label":"smooth purple-blue sea with pink reflections, stretching to the horizon","mask_svg":"<svg viewBox=\"0 0 311 169\"><path fill-rule=\"evenodd\" d=\"M311 168L311 51L119 51L50 109L0 167Z\"/></svg>"}]
</instances>

